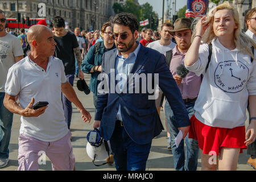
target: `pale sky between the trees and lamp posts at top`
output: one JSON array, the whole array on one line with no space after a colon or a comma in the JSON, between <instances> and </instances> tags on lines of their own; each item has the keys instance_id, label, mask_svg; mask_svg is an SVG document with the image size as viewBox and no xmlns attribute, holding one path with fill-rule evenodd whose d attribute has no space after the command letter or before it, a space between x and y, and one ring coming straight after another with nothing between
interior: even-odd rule
<instances>
[{"instance_id":1,"label":"pale sky between the trees and lamp posts at top","mask_svg":"<svg viewBox=\"0 0 256 182\"><path fill-rule=\"evenodd\" d=\"M140 5L148 2L153 6L153 10L158 14L159 18L163 16L163 0L138 0ZM170 0L172 3L175 0ZM181 9L183 6L187 5L187 0L176 0L176 11ZM171 4L172 7L172 4ZM167 1L164 0L164 10L167 9Z\"/></svg>"}]
</instances>

